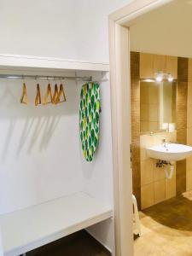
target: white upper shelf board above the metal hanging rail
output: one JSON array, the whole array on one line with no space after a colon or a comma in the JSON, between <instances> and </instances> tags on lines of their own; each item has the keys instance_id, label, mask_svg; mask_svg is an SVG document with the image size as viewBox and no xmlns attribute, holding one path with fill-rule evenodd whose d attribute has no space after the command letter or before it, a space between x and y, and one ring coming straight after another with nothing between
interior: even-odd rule
<instances>
[{"instance_id":1,"label":"white upper shelf board above the metal hanging rail","mask_svg":"<svg viewBox=\"0 0 192 256\"><path fill-rule=\"evenodd\" d=\"M32 69L45 68L54 70L84 70L84 71L109 71L108 63L93 63L88 61L73 61L49 57L37 57L27 55L3 55L0 54L0 68L3 69Z\"/></svg>"}]
</instances>

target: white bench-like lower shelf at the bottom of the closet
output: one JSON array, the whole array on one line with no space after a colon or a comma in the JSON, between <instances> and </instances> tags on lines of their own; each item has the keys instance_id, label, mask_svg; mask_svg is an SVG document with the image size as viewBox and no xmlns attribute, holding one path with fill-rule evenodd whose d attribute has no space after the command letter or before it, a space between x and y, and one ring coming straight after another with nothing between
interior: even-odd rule
<instances>
[{"instance_id":1,"label":"white bench-like lower shelf at the bottom of the closet","mask_svg":"<svg viewBox=\"0 0 192 256\"><path fill-rule=\"evenodd\" d=\"M15 256L85 229L113 215L83 192L0 216L4 256Z\"/></svg>"}]
</instances>

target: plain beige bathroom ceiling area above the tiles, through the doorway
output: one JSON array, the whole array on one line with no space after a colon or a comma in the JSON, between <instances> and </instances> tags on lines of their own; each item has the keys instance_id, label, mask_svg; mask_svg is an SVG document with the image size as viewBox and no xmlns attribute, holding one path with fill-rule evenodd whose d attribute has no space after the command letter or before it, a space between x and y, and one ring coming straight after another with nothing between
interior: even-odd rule
<instances>
[{"instance_id":1,"label":"plain beige bathroom ceiling area above the tiles, through the doorway","mask_svg":"<svg viewBox=\"0 0 192 256\"><path fill-rule=\"evenodd\" d=\"M192 0L174 0L134 20L131 50L192 57Z\"/></svg>"}]
</instances>

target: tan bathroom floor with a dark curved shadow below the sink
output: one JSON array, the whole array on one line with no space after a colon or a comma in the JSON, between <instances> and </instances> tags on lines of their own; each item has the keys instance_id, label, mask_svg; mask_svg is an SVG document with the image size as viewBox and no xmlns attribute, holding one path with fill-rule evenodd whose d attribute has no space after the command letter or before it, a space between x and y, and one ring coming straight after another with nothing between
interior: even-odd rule
<instances>
[{"instance_id":1,"label":"tan bathroom floor with a dark curved shadow below the sink","mask_svg":"<svg viewBox=\"0 0 192 256\"><path fill-rule=\"evenodd\" d=\"M134 256L192 256L192 192L140 212Z\"/></svg>"}]
</instances>

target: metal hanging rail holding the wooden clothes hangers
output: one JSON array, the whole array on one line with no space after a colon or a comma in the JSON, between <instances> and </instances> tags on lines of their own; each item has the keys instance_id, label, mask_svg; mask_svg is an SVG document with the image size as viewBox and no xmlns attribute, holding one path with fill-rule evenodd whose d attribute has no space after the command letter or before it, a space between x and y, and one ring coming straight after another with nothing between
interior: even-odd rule
<instances>
[{"instance_id":1,"label":"metal hanging rail holding the wooden clothes hangers","mask_svg":"<svg viewBox=\"0 0 192 256\"><path fill-rule=\"evenodd\" d=\"M92 77L63 77L63 76L40 76L40 75L19 75L19 74L0 74L0 79L46 79L46 80L75 80L91 82Z\"/></svg>"}]
</instances>

